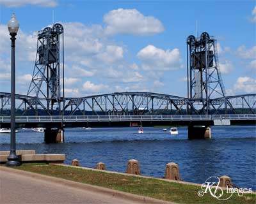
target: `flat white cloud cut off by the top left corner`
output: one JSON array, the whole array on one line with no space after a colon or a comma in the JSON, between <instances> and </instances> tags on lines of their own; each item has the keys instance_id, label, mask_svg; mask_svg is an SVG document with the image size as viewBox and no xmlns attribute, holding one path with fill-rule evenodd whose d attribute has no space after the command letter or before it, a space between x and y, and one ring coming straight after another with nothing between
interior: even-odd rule
<instances>
[{"instance_id":1,"label":"flat white cloud cut off by the top left corner","mask_svg":"<svg viewBox=\"0 0 256 204\"><path fill-rule=\"evenodd\" d=\"M0 4L8 7L20 7L28 4L45 7L54 7L58 5L57 1L54 0L0 0Z\"/></svg>"}]
</instances>

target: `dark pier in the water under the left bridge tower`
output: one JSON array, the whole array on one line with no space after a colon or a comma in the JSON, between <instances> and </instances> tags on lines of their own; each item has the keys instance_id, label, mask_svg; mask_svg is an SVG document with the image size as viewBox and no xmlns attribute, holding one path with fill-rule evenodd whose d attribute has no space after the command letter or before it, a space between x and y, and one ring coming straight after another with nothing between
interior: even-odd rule
<instances>
[{"instance_id":1,"label":"dark pier in the water under the left bridge tower","mask_svg":"<svg viewBox=\"0 0 256 204\"><path fill-rule=\"evenodd\" d=\"M64 142L64 129L51 129L44 130L45 143L63 143Z\"/></svg>"}]
</instances>

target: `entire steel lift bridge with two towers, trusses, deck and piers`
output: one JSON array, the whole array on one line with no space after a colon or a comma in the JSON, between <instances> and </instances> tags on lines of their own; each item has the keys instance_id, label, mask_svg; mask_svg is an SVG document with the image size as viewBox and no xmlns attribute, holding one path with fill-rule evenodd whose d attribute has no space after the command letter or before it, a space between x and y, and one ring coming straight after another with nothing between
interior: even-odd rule
<instances>
[{"instance_id":1,"label":"entire steel lift bridge with two towers, trusses, deck and piers","mask_svg":"<svg viewBox=\"0 0 256 204\"><path fill-rule=\"evenodd\" d=\"M63 38L61 24L39 31L28 94L16 94L17 127L46 128L46 142L74 126L184 125L189 138L207 138L214 124L255 124L256 94L226 96L217 43L206 32L187 38L187 97L153 92L65 97ZM0 99L0 127L8 128L10 116L3 115L10 113L10 93L0 92Z\"/></svg>"}]
</instances>

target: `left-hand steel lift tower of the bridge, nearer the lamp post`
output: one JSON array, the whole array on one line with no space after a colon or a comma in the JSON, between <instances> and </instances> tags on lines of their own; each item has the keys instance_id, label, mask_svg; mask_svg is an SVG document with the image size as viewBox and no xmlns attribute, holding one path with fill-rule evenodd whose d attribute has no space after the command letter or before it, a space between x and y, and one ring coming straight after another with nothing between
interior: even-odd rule
<instances>
[{"instance_id":1,"label":"left-hand steel lift tower of the bridge, nearer the lamp post","mask_svg":"<svg viewBox=\"0 0 256 204\"><path fill-rule=\"evenodd\" d=\"M61 114L61 101L64 98L63 48L61 24L45 27L38 32L35 67L27 95L46 101L45 111L49 115L53 115L54 110Z\"/></svg>"}]
</instances>

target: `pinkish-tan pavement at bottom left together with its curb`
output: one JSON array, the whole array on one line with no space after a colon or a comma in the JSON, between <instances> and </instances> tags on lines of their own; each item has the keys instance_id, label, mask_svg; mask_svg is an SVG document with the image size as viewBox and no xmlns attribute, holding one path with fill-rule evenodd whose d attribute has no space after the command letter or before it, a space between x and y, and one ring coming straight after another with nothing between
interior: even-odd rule
<instances>
[{"instance_id":1,"label":"pinkish-tan pavement at bottom left together with its curb","mask_svg":"<svg viewBox=\"0 0 256 204\"><path fill-rule=\"evenodd\" d=\"M136 196L129 198L129 195L122 196L122 193L115 194L109 190L86 184L71 182L63 179L45 177L24 171L0 167L0 203L145 203L143 199L138 200ZM44 179L45 177L45 179ZM58 182L59 180L59 182ZM70 185L69 185L70 183ZM76 185L77 183L77 185ZM85 187L83 187L83 185ZM95 190L96 189L96 190ZM103 190L102 190L103 189ZM114 193L111 193L113 191ZM124 193L125 194L125 193ZM147 197L144 197L147 198ZM146 199L147 200L147 199ZM157 203L150 201L146 203ZM159 203L162 203L160 201ZM167 203L164 202L163 203Z\"/></svg>"}]
</instances>

